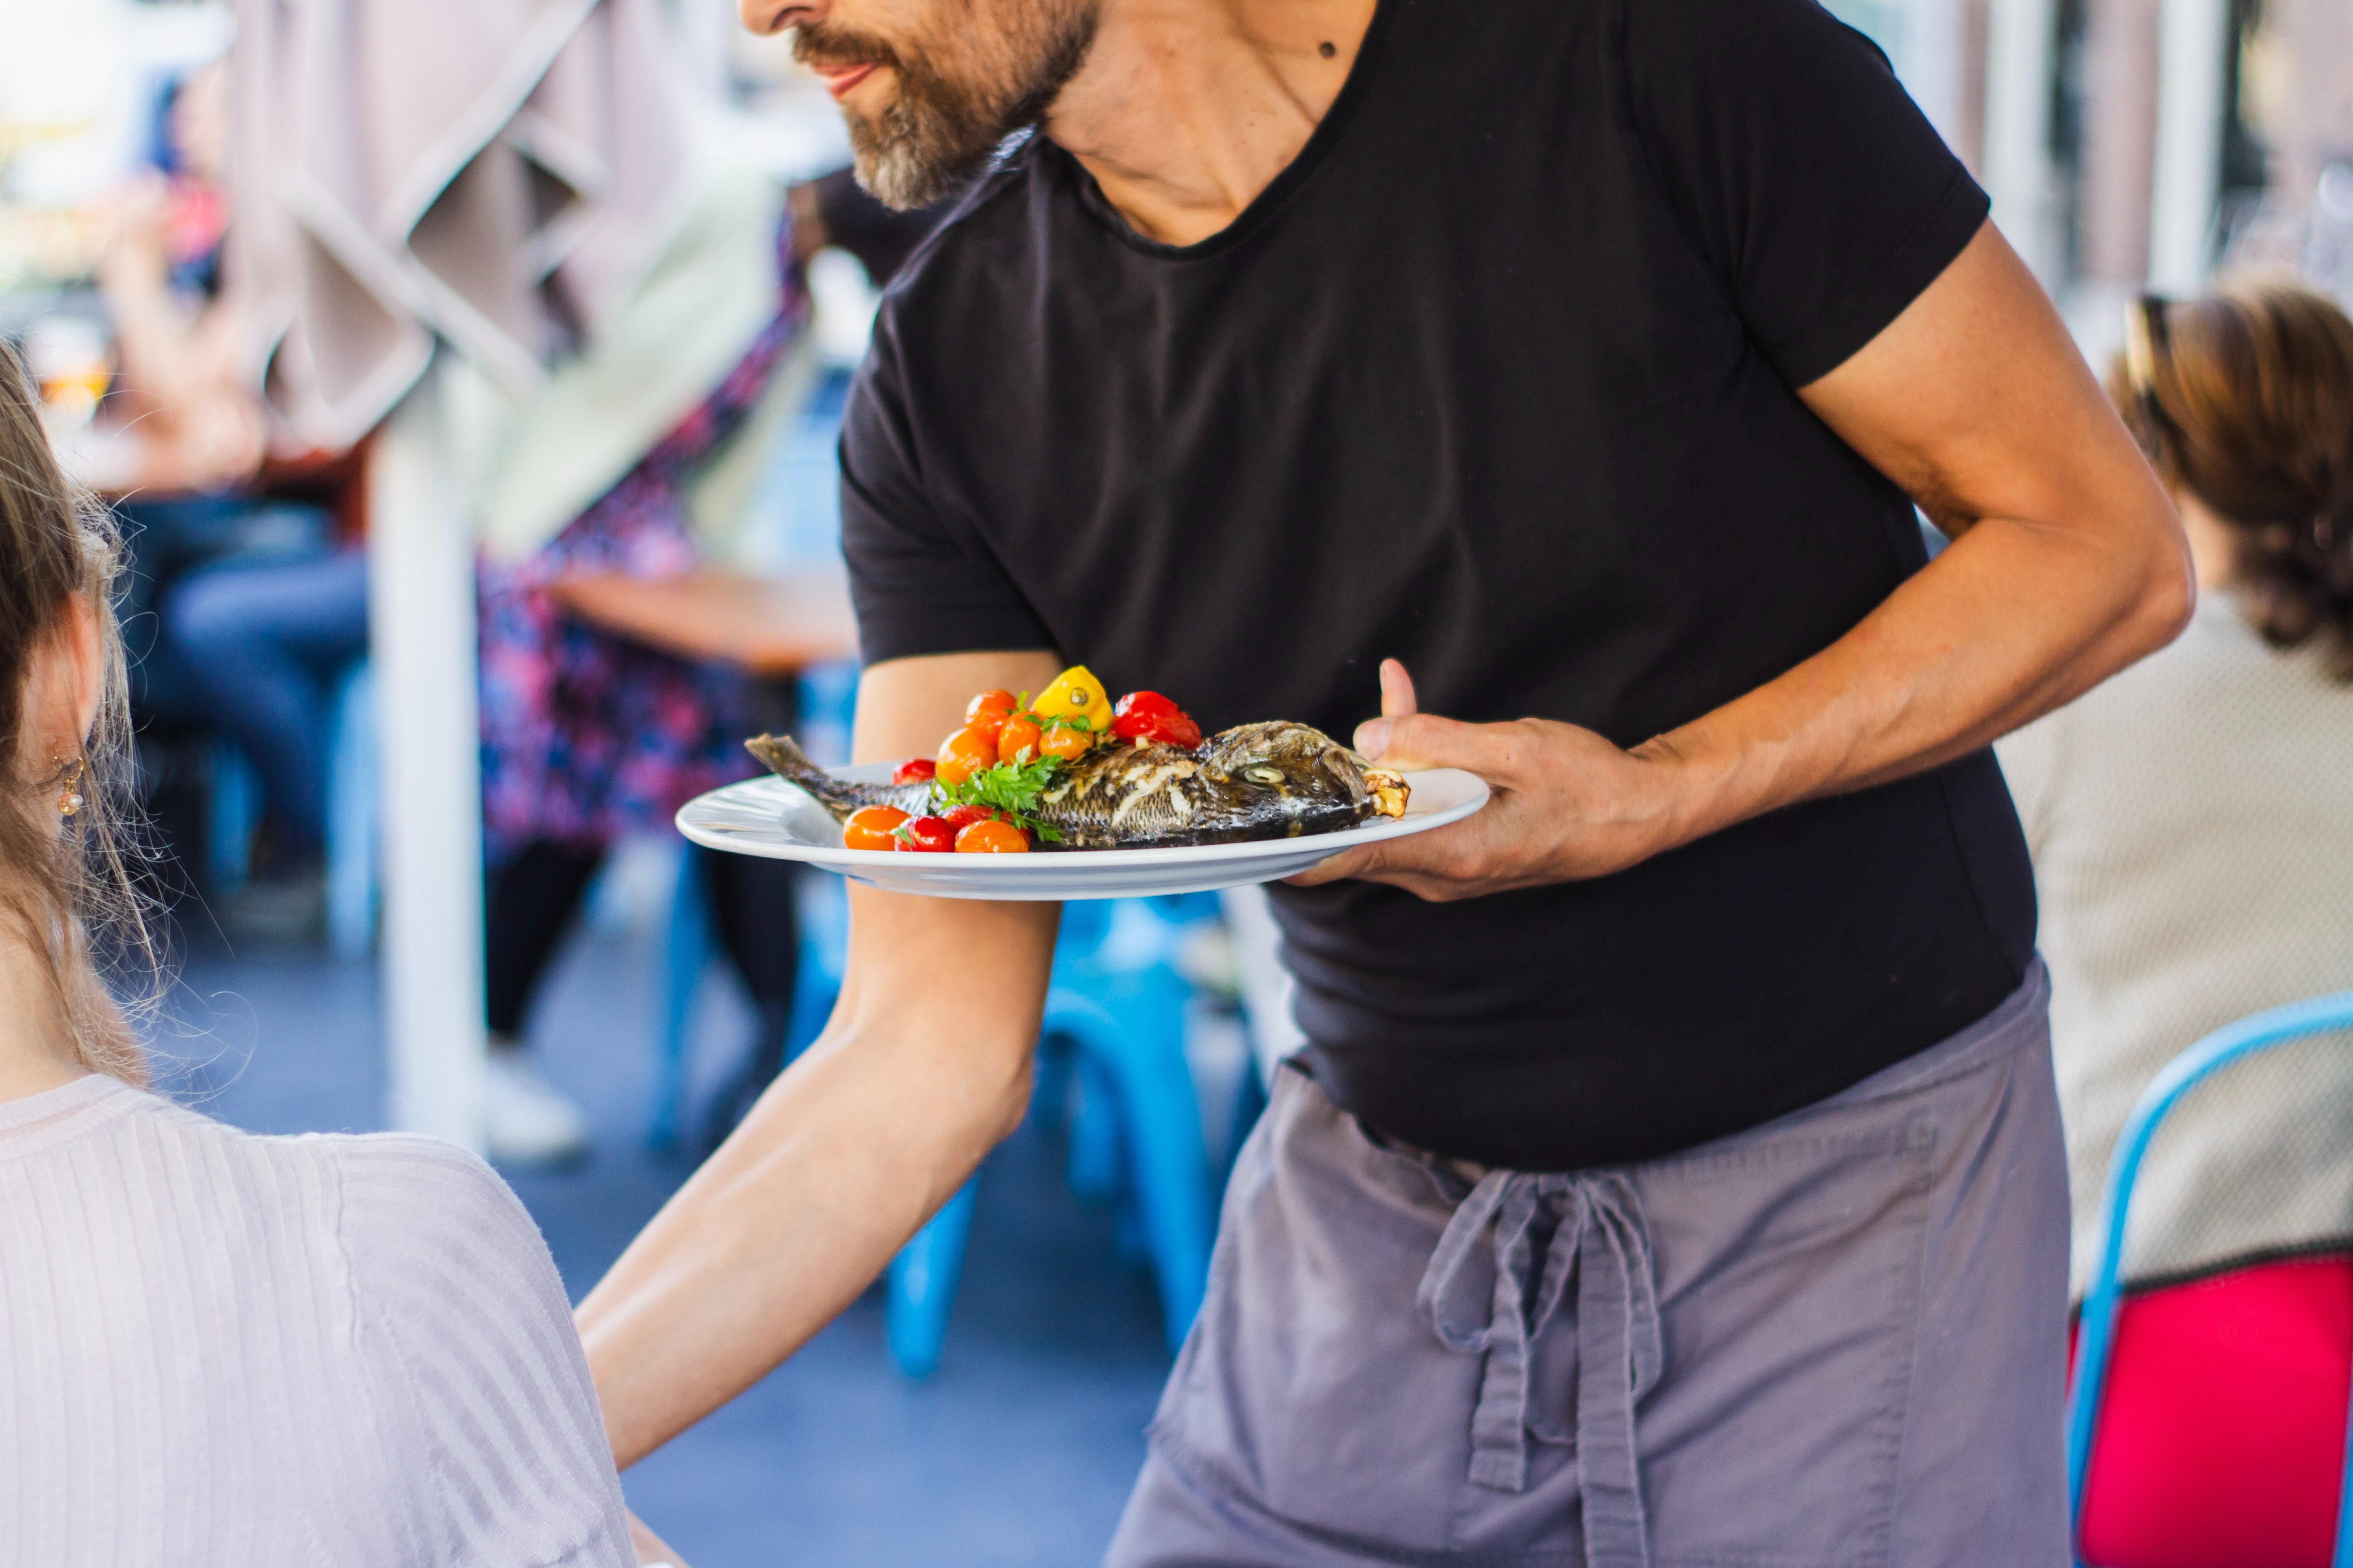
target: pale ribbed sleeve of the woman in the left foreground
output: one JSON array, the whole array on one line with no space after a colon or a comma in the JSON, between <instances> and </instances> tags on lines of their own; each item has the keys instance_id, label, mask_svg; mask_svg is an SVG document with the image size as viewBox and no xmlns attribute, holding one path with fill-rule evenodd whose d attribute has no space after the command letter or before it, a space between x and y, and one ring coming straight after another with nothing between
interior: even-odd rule
<instances>
[{"instance_id":1,"label":"pale ribbed sleeve of the woman in the left foreground","mask_svg":"<svg viewBox=\"0 0 2353 1568\"><path fill-rule=\"evenodd\" d=\"M633 1568L588 1356L532 1215L456 1145L334 1143L355 1338L414 1481L407 1561Z\"/></svg>"}]
</instances>

